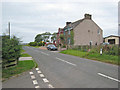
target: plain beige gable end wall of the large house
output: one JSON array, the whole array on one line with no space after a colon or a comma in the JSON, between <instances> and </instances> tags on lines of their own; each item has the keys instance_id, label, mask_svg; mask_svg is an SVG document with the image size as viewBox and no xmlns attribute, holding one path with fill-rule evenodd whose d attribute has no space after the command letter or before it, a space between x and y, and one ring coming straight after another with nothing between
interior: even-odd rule
<instances>
[{"instance_id":1,"label":"plain beige gable end wall of the large house","mask_svg":"<svg viewBox=\"0 0 120 90\"><path fill-rule=\"evenodd\" d=\"M100 34L98 34L98 30ZM91 19L84 19L74 28L74 45L97 45L103 43L102 29Z\"/></svg>"}]
</instances>

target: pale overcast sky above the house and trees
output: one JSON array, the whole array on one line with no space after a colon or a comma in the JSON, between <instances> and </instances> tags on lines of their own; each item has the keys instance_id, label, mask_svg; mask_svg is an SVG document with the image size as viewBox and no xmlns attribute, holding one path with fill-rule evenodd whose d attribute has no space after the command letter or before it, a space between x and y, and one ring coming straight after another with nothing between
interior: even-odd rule
<instances>
[{"instance_id":1,"label":"pale overcast sky above the house and trees","mask_svg":"<svg viewBox=\"0 0 120 90\"><path fill-rule=\"evenodd\" d=\"M85 13L102 28L103 36L118 35L119 0L3 0L2 33L11 34L23 42L34 41L39 33L57 32L67 21L84 18ZM1 32L0 32L1 33Z\"/></svg>"}]
</instances>

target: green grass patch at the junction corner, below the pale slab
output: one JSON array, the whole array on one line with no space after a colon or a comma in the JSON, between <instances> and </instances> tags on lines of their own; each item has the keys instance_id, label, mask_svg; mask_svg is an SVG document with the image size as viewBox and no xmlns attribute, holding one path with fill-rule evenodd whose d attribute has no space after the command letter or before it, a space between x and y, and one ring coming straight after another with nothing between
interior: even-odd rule
<instances>
[{"instance_id":1,"label":"green grass patch at the junction corner, below the pale slab","mask_svg":"<svg viewBox=\"0 0 120 90\"><path fill-rule=\"evenodd\" d=\"M35 67L35 65L33 60L18 61L18 65L2 70L2 78L10 78L11 76L28 71Z\"/></svg>"}]
</instances>

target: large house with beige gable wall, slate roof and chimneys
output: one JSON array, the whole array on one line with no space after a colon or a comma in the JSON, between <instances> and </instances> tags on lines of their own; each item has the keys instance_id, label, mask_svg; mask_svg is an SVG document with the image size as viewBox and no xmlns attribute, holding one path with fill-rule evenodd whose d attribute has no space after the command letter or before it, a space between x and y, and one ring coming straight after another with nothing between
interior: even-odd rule
<instances>
[{"instance_id":1,"label":"large house with beige gable wall, slate roof and chimneys","mask_svg":"<svg viewBox=\"0 0 120 90\"><path fill-rule=\"evenodd\" d=\"M103 43L103 30L92 20L92 15L85 14L83 19L66 22L63 28L66 45L100 45ZM73 41L71 38L73 32Z\"/></svg>"}]
</instances>

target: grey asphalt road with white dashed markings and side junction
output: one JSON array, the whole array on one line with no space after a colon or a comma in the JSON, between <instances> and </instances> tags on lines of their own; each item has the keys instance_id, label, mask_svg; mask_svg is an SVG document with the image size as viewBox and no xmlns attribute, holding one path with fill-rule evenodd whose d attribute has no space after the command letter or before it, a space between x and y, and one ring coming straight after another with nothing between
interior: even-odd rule
<instances>
[{"instance_id":1,"label":"grey asphalt road with white dashed markings and side junction","mask_svg":"<svg viewBox=\"0 0 120 90\"><path fill-rule=\"evenodd\" d=\"M118 88L116 65L34 47L24 50L38 68L3 82L3 88Z\"/></svg>"}]
</instances>

